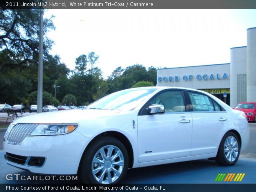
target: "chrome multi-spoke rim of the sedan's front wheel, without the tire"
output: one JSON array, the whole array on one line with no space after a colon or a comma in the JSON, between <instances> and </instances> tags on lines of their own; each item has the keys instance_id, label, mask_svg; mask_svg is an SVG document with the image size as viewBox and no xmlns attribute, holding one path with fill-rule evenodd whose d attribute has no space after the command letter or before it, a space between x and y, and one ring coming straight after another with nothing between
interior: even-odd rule
<instances>
[{"instance_id":1,"label":"chrome multi-spoke rim of the sedan's front wheel, without the tire","mask_svg":"<svg viewBox=\"0 0 256 192\"><path fill-rule=\"evenodd\" d=\"M94 155L92 160L92 175L100 184L115 182L124 169L124 155L114 146L107 145Z\"/></svg>"}]
</instances>

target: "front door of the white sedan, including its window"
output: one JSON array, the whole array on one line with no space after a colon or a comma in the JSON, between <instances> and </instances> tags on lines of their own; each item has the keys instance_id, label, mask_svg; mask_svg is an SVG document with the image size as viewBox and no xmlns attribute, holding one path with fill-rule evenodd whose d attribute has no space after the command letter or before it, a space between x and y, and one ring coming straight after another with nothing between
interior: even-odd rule
<instances>
[{"instance_id":1,"label":"front door of the white sedan, including its window","mask_svg":"<svg viewBox=\"0 0 256 192\"><path fill-rule=\"evenodd\" d=\"M192 116L185 110L182 90L165 91L148 102L164 105L164 114L138 116L138 159L150 162L190 156Z\"/></svg>"}]
</instances>

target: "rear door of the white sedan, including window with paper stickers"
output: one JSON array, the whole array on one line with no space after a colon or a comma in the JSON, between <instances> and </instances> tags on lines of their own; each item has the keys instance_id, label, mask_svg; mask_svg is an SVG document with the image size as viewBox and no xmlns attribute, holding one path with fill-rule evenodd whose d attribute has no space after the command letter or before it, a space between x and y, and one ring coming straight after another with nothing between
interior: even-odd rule
<instances>
[{"instance_id":1,"label":"rear door of the white sedan, including window with paper stickers","mask_svg":"<svg viewBox=\"0 0 256 192\"><path fill-rule=\"evenodd\" d=\"M205 94L188 91L188 96L193 119L191 156L215 153L227 127L227 113Z\"/></svg>"}]
</instances>

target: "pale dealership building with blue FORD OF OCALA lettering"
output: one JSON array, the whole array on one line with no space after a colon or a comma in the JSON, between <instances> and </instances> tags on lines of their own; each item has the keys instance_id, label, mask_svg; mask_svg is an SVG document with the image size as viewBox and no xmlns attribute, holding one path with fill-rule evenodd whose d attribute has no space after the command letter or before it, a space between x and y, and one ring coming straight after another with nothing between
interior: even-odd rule
<instances>
[{"instance_id":1,"label":"pale dealership building with blue FORD OF OCALA lettering","mask_svg":"<svg viewBox=\"0 0 256 192\"><path fill-rule=\"evenodd\" d=\"M247 46L230 49L230 63L158 69L156 86L203 90L231 107L256 102L256 28L247 29Z\"/></svg>"}]
</instances>

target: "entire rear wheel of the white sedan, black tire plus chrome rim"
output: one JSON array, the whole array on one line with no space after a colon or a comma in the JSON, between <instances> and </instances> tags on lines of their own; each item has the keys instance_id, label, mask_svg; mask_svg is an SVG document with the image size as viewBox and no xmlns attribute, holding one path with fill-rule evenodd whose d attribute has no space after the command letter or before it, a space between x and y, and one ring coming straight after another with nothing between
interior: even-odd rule
<instances>
[{"instance_id":1,"label":"entire rear wheel of the white sedan, black tire plus chrome rim","mask_svg":"<svg viewBox=\"0 0 256 192\"><path fill-rule=\"evenodd\" d=\"M224 166L234 165L240 155L240 141L234 132L227 132L218 149L215 161Z\"/></svg>"}]
</instances>

